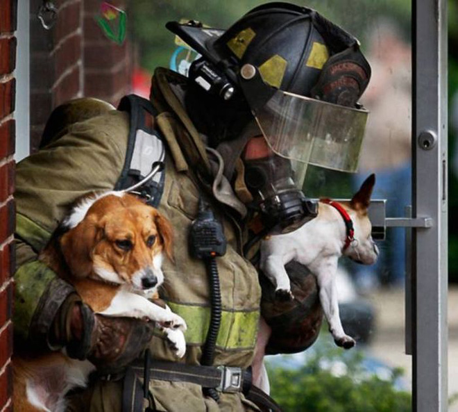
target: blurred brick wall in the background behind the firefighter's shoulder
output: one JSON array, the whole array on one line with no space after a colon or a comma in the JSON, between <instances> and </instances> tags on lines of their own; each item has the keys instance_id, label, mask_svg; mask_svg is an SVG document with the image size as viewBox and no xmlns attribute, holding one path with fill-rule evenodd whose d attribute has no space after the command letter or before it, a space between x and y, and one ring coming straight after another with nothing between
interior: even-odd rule
<instances>
[{"instance_id":1,"label":"blurred brick wall in the background behind the firefighter's shoulder","mask_svg":"<svg viewBox=\"0 0 458 412\"><path fill-rule=\"evenodd\" d=\"M56 0L56 24L45 30L35 17L42 0L31 0L31 153L59 104L85 96L116 105L130 90L128 42L105 38L94 19L100 3Z\"/></svg>"}]
</instances>

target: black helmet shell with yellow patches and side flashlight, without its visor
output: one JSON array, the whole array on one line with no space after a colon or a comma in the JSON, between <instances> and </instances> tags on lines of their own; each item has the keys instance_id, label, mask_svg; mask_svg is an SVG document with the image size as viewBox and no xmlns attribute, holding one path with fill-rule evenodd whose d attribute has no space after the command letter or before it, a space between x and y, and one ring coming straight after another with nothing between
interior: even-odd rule
<instances>
[{"instance_id":1,"label":"black helmet shell with yellow patches and side flashlight, without its visor","mask_svg":"<svg viewBox=\"0 0 458 412\"><path fill-rule=\"evenodd\" d=\"M222 99L243 91L242 79L250 76L242 70L246 65L267 87L353 107L371 75L356 38L315 10L290 3L258 6L226 31L194 20L169 22L167 28L203 56L194 65L207 64L191 71L194 81Z\"/></svg>"}]
</instances>

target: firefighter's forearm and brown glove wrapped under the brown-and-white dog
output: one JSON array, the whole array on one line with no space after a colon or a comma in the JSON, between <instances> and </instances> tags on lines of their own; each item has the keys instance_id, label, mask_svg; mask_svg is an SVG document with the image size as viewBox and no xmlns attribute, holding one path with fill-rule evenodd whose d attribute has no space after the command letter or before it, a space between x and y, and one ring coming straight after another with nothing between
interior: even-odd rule
<instances>
[{"instance_id":1,"label":"firefighter's forearm and brown glove wrapped under the brown-and-white dog","mask_svg":"<svg viewBox=\"0 0 458 412\"><path fill-rule=\"evenodd\" d=\"M17 240L15 333L18 343L33 349L65 347L75 359L90 359L114 372L135 359L151 339L142 320L94 314L74 288L37 260L33 249ZM21 264L22 263L22 264Z\"/></svg>"}]
</instances>

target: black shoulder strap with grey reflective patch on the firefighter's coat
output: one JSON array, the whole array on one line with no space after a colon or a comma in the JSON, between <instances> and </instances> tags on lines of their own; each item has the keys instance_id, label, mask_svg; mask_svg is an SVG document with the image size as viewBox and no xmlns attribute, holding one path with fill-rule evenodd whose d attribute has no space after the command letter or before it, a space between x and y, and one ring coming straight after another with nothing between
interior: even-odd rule
<instances>
[{"instance_id":1,"label":"black shoulder strap with grey reflective patch on the firefighter's coat","mask_svg":"<svg viewBox=\"0 0 458 412\"><path fill-rule=\"evenodd\" d=\"M153 167L161 165L158 173L137 189L147 204L157 207L164 190L164 140L153 129L153 117L158 114L149 100L135 94L121 99L117 110L129 114L129 135L126 160L114 190L123 190L139 183Z\"/></svg>"}]
</instances>

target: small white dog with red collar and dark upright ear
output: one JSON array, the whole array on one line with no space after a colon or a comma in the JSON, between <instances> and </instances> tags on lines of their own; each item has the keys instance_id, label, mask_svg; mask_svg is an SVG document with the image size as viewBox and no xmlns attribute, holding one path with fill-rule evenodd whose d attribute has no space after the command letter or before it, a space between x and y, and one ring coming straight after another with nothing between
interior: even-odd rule
<instances>
[{"instance_id":1,"label":"small white dog with red collar and dark upright ear","mask_svg":"<svg viewBox=\"0 0 458 412\"><path fill-rule=\"evenodd\" d=\"M296 231L262 240L260 267L276 287L279 298L292 298L285 265L297 261L316 276L319 297L334 342L349 349L355 340L343 331L337 302L337 261L344 255L353 261L371 265L378 248L371 236L367 208L375 184L375 175L364 181L348 202L321 200L319 213Z\"/></svg>"}]
</instances>

